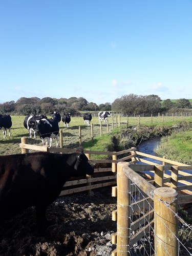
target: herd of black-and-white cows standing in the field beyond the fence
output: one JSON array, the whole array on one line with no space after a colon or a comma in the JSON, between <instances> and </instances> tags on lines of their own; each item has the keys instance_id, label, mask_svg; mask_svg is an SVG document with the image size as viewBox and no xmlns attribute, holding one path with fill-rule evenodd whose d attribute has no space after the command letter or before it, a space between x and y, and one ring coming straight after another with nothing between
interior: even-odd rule
<instances>
[{"instance_id":1,"label":"herd of black-and-white cows standing in the field beyond the fence","mask_svg":"<svg viewBox=\"0 0 192 256\"><path fill-rule=\"evenodd\" d=\"M104 120L104 123L106 123L106 120L108 119L108 116L111 116L111 113L109 111L101 111L98 113L99 117L99 123L101 123L102 120ZM62 120L65 127L69 127L69 123L71 121L70 113L66 113L62 116L56 111L52 113L51 118L47 118L45 115L28 115L25 117L24 120L24 126L29 131L29 135L32 138L36 138L36 133L39 135L42 143L44 145L50 145L53 144L53 139L56 139L56 146L58 147L58 134L59 134L59 122ZM92 120L92 114L91 113L85 113L83 115L84 123L90 126L91 120ZM7 136L7 130L9 131L10 136L10 130L12 126L11 116L10 115L0 115L0 130L3 129L3 136L4 139Z\"/></svg>"}]
</instances>

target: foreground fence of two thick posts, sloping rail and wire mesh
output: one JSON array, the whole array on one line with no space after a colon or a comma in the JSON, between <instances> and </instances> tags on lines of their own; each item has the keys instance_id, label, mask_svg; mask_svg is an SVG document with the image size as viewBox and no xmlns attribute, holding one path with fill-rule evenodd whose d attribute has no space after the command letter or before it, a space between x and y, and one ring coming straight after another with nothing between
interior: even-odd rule
<instances>
[{"instance_id":1,"label":"foreground fence of two thick posts, sloping rail and wire mesh","mask_svg":"<svg viewBox=\"0 0 192 256\"><path fill-rule=\"evenodd\" d=\"M151 227L154 227L155 243L151 253L157 256L177 256L179 251L177 191L174 188L157 188L147 182L132 169L134 164L121 162L117 166L117 233L112 239L112 242L117 244L117 248L112 255L130 255L131 247L133 248L133 245L138 243ZM143 200L138 201L138 204L131 199L133 192L131 182L146 195ZM149 203L153 204L154 211L146 211ZM141 212L141 216L137 219L139 223L137 225L136 221L132 222L131 217L138 211ZM152 254L147 253L147 255Z\"/></svg>"}]
</instances>

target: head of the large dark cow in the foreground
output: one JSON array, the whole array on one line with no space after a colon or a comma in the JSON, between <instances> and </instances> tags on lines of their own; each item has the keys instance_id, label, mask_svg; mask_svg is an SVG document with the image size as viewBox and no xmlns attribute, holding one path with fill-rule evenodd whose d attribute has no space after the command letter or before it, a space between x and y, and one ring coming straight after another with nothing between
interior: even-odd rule
<instances>
[{"instance_id":1,"label":"head of the large dark cow in the foreground","mask_svg":"<svg viewBox=\"0 0 192 256\"><path fill-rule=\"evenodd\" d=\"M74 153L69 154L67 164L73 167L73 176L83 176L93 174L94 168L88 162L88 158L83 153L83 148L79 147Z\"/></svg>"}]
</instances>

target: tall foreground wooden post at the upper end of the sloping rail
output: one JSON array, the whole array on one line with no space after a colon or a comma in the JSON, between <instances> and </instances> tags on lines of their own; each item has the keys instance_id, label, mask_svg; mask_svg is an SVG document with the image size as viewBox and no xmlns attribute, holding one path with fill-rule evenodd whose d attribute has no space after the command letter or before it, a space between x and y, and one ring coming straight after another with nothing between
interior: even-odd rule
<instances>
[{"instance_id":1,"label":"tall foreground wooden post at the upper end of the sloping rail","mask_svg":"<svg viewBox=\"0 0 192 256\"><path fill-rule=\"evenodd\" d=\"M123 173L125 162L117 164L117 255L129 254L130 231L131 231L131 181Z\"/></svg>"}]
</instances>

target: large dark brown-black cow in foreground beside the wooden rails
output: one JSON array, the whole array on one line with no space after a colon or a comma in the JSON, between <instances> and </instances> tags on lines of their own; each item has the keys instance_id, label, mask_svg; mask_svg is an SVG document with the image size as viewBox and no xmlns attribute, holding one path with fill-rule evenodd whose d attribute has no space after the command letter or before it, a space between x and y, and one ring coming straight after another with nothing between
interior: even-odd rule
<instances>
[{"instance_id":1,"label":"large dark brown-black cow in foreground beside the wooden rails","mask_svg":"<svg viewBox=\"0 0 192 256\"><path fill-rule=\"evenodd\" d=\"M37 225L48 225L46 209L71 177L94 173L82 147L70 154L35 152L0 156L0 218L35 206Z\"/></svg>"}]
</instances>

